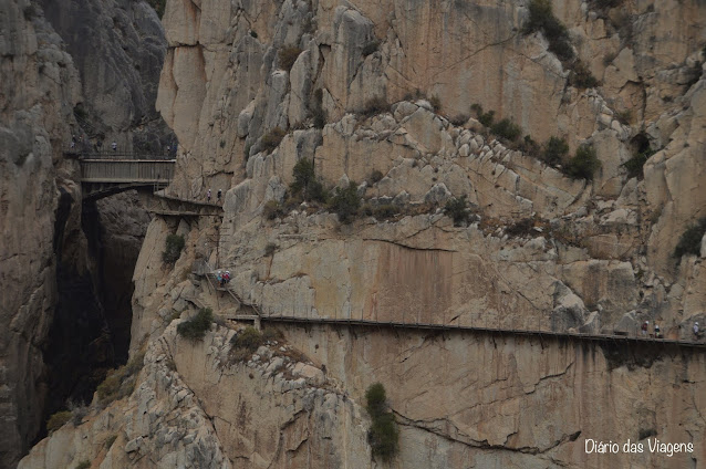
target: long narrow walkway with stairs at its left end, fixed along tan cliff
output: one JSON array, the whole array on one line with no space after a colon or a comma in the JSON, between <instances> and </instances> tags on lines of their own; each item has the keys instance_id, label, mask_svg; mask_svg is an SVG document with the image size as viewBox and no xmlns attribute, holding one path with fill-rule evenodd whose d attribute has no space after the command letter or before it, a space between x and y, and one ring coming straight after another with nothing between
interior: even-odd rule
<instances>
[{"instance_id":1,"label":"long narrow walkway with stairs at its left end, fixed along tan cliff","mask_svg":"<svg viewBox=\"0 0 706 469\"><path fill-rule=\"evenodd\" d=\"M221 269L225 271L226 269ZM235 272L235 269L230 269ZM220 284L216 280L215 271L201 271L201 274L206 275L209 283L218 291L231 296L238 304L241 304L242 314L236 314L232 317L226 317L235 321L255 321L259 326L260 323L287 323L297 324L301 326L311 325L331 325L341 327L364 327L364 329L392 329L392 330L407 330L407 331L428 331L440 333L466 333L466 334L491 334L500 336L532 336L539 340L569 340L579 341L583 343L598 343L609 347L615 346L648 346L660 348L677 348L677 350L697 350L706 352L705 337L699 340L684 340L675 337L655 337L651 335L643 336L641 334L629 334L624 331L615 331L612 334L594 334L594 333L581 333L570 331L552 331L550 329L509 329L502 326L494 326L484 322L482 315L477 315L477 321L471 320L470 323L458 323L455 320L449 322L443 321L439 317L439 322L419 322L414 315L398 319L377 319L366 315L364 312L357 314L351 314L351 312L340 313L334 312L333 315L320 315L313 314L311 310L297 311L292 309L290 313L282 313L281 311L269 311L267 308L257 306L255 304L246 303L241 296L235 292L232 285Z\"/></svg>"}]
</instances>

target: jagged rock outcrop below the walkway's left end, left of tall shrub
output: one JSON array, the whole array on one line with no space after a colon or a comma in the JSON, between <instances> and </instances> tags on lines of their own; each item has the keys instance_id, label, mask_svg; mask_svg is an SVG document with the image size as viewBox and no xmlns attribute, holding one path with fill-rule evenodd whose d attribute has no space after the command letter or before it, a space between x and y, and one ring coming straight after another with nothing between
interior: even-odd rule
<instances>
[{"instance_id":1,"label":"jagged rock outcrop below the walkway's left end, left of tall shrub","mask_svg":"<svg viewBox=\"0 0 706 469\"><path fill-rule=\"evenodd\" d=\"M233 331L193 343L177 323L150 342L128 399L58 430L19 468L372 467L361 407L291 346L271 341L239 361Z\"/></svg>"}]
</instances>

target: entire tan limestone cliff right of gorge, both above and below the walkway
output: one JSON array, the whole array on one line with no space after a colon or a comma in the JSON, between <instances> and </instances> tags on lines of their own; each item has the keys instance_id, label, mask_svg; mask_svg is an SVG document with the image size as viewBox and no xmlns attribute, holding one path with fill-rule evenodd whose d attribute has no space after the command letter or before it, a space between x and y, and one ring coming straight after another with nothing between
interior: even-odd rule
<instances>
[{"instance_id":1,"label":"entire tan limestone cliff right of gorge, both above and below the walkway","mask_svg":"<svg viewBox=\"0 0 706 469\"><path fill-rule=\"evenodd\" d=\"M169 190L222 189L225 217L153 220L133 277L131 353L148 348L136 392L64 427L22 467L293 468L322 454L325 467L368 467L359 403L376 381L402 428L393 467L698 467L700 352L287 326L288 347L308 357L284 365L307 369L299 388L285 372L272 377L284 364L277 347L231 365L231 332L214 327L194 345L169 325L203 305L250 304L266 315L589 334L634 334L650 320L687 336L706 320L706 271L703 256L672 253L706 215L706 9L553 3L599 86L571 85L542 34L521 33L526 1L168 1L157 107L179 140ZM373 97L390 105L363 113ZM468 118L474 103L536 140L593 145L600 170L572 179L507 145ZM285 136L268 145L276 127ZM656 152L644 178L629 177L623 164L645 146ZM355 181L362 215L343 225L297 202L264 217L267 202L288 206L301 158L328 188ZM474 219L454 226L444 205L460 196ZM390 205L401 215L375 212ZM186 249L164 265L175 232ZM230 269L240 310L193 274L204 261ZM583 451L586 438L646 435L696 452Z\"/></svg>"}]
</instances>

